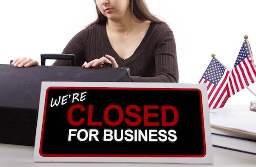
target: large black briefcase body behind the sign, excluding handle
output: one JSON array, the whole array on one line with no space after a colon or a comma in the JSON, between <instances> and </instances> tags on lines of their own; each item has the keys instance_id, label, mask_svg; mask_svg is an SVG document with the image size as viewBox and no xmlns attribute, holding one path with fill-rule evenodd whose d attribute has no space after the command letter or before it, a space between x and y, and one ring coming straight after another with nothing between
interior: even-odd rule
<instances>
[{"instance_id":1,"label":"large black briefcase body behind the sign, excluding handle","mask_svg":"<svg viewBox=\"0 0 256 167\"><path fill-rule=\"evenodd\" d=\"M0 64L0 143L34 146L42 81L128 82L127 69Z\"/></svg>"}]
</instances>

